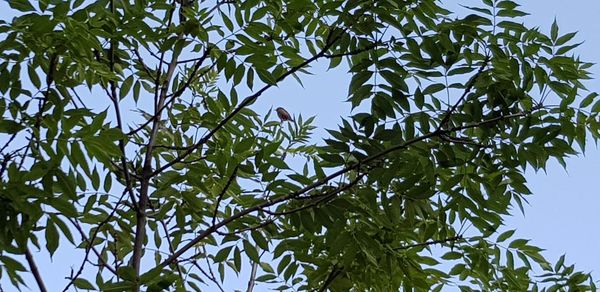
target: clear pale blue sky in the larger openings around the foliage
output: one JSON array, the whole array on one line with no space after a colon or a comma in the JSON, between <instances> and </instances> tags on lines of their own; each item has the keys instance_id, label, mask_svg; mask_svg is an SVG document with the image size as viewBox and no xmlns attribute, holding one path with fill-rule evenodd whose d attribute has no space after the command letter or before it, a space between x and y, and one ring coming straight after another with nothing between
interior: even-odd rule
<instances>
[{"instance_id":1,"label":"clear pale blue sky in the larger openings around the foliage","mask_svg":"<svg viewBox=\"0 0 600 292\"><path fill-rule=\"evenodd\" d=\"M456 2L472 3L473 1L444 1L448 5ZM600 15L600 2L597 0L530 0L521 1L523 9L531 13L525 23L540 26L549 31L550 24L556 17L562 33L579 31L576 40L584 42L576 54L585 61L600 62L600 34L596 19ZM5 6L1 3L0 6ZM4 18L4 17L2 17ZM304 76L304 88L293 79L286 80L280 87L267 92L253 108L264 113L269 107L283 106L293 114L304 117L316 116L315 125L319 127L318 135L324 135L326 128L335 128L340 121L339 115L348 115L350 105L344 103L347 96L349 76L337 70L327 72L326 63L316 66L312 76ZM600 66L592 68L593 77L600 76ZM598 80L586 83L588 89L599 91ZM579 270L592 271L600 278L600 234L595 227L600 222L600 196L596 179L600 162L600 151L590 141L585 156L567 160L567 170L558 163L551 162L547 173L528 172L529 187L533 192L530 205L525 208L525 216L519 211L507 218L509 229L517 229L517 235L532 239L534 245L546 249L544 255L552 262L563 253L567 254L567 264L575 263ZM78 237L78 236L76 236ZM62 241L67 243L66 241ZM72 247L62 248L57 252L54 262L50 264L45 257L40 257L38 264L50 291L62 290L64 277L68 275L70 266L77 269L80 256L75 259L70 251ZM36 286L31 278L30 287ZM244 283L245 283L245 279ZM10 287L6 279L3 288ZM242 286L243 287L243 286ZM258 287L260 288L260 286ZM7 290L8 291L8 290ZM260 289L257 289L260 291Z\"/></svg>"}]
</instances>

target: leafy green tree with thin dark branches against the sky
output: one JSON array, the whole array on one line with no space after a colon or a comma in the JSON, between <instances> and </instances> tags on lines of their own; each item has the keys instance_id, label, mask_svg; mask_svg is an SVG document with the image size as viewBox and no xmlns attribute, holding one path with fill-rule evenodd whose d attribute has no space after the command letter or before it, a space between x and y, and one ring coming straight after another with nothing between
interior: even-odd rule
<instances>
[{"instance_id":1,"label":"leafy green tree with thin dark branches against the sky","mask_svg":"<svg viewBox=\"0 0 600 292\"><path fill-rule=\"evenodd\" d=\"M82 251L65 290L595 290L513 238L523 172L599 137L575 33L513 1L9 2L0 23L0 262ZM354 108L253 103L316 62ZM134 114L132 114L134 113ZM249 264L246 264L249 263ZM96 275L94 278L93 275ZM94 280L95 279L95 280Z\"/></svg>"}]
</instances>

